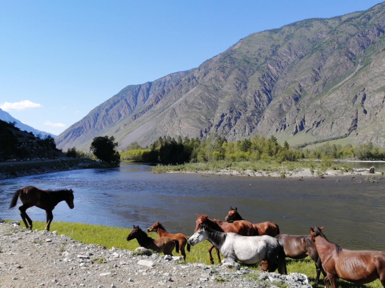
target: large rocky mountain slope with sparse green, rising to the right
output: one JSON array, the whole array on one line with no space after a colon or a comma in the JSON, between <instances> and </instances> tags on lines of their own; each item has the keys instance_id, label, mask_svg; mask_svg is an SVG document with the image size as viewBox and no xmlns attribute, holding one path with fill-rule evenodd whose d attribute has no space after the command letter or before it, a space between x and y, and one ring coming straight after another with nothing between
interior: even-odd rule
<instances>
[{"instance_id":1,"label":"large rocky mountain slope with sparse green, rising to the right","mask_svg":"<svg viewBox=\"0 0 385 288\"><path fill-rule=\"evenodd\" d=\"M130 85L55 141L88 150L169 134L228 140L259 133L290 145L346 138L385 145L385 3L253 33L198 68Z\"/></svg>"}]
</instances>

